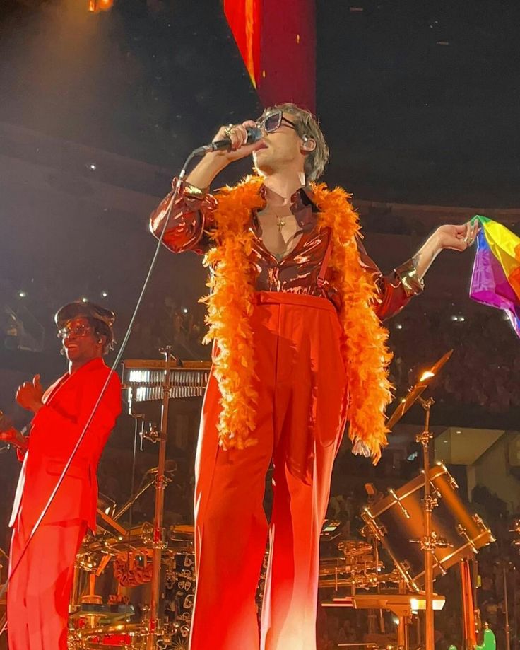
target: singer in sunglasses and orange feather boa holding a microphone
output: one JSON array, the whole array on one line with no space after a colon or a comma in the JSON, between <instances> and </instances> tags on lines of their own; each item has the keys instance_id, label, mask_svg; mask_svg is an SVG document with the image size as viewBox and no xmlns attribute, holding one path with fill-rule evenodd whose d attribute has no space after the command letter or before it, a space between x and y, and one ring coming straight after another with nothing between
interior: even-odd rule
<instances>
[{"instance_id":1,"label":"singer in sunglasses and orange feather boa holding a microphone","mask_svg":"<svg viewBox=\"0 0 520 650\"><path fill-rule=\"evenodd\" d=\"M345 423L353 452L374 463L386 443L390 354L381 321L422 291L440 250L465 250L475 231L441 226L384 276L360 243L349 195L315 182L329 149L307 110L277 105L256 122L220 128L215 141L226 138L228 150L207 153L182 185L164 238L175 253L204 253L211 269L190 647L315 650L319 534ZM208 192L223 168L250 154L253 175ZM155 236L171 197L150 217Z\"/></svg>"}]
</instances>

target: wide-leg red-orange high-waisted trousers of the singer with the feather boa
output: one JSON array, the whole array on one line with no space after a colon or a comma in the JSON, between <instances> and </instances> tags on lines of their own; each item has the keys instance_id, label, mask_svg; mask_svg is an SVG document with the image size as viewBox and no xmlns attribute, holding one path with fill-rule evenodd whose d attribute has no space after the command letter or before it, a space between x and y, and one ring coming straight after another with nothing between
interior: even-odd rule
<instances>
[{"instance_id":1,"label":"wide-leg red-orange high-waisted trousers of the singer with the feather boa","mask_svg":"<svg viewBox=\"0 0 520 650\"><path fill-rule=\"evenodd\" d=\"M256 446L223 451L211 376L196 458L191 650L315 650L319 535L345 419L341 327L324 298L257 294ZM273 512L263 508L273 462ZM255 593L269 533L259 630Z\"/></svg>"}]
</instances>

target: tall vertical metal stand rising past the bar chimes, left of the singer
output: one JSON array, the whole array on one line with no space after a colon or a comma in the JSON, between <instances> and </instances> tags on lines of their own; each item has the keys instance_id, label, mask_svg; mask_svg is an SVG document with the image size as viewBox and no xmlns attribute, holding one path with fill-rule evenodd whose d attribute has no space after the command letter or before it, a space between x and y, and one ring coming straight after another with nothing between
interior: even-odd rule
<instances>
[{"instance_id":1,"label":"tall vertical metal stand rising past the bar chimes, left of the singer","mask_svg":"<svg viewBox=\"0 0 520 650\"><path fill-rule=\"evenodd\" d=\"M148 619L148 638L146 639L146 650L154 650L156 640L160 634L159 620L159 596L160 596L160 569L162 551L167 547L165 542L165 529L163 526L165 487L167 477L165 476L166 465L166 443L168 425L168 407L170 405L171 369L175 365L175 356L172 355L172 348L167 345L161 350L165 355L165 373L162 383L162 408L160 414L160 436L159 436L159 459L157 475L155 475L155 514L153 516L153 556L152 556L152 580L150 584L150 615Z\"/></svg>"}]
</instances>

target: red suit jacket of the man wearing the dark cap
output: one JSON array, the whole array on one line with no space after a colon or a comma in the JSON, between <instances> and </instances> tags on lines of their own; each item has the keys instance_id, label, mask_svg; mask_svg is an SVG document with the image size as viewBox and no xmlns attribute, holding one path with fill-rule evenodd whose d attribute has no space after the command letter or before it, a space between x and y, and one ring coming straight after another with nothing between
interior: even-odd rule
<instances>
[{"instance_id":1,"label":"red suit jacket of the man wearing the dark cap","mask_svg":"<svg viewBox=\"0 0 520 650\"><path fill-rule=\"evenodd\" d=\"M26 526L32 527L40 516L109 373L110 368L102 359L93 359L76 372L64 374L45 391L44 405L32 419L10 526L20 516ZM105 395L42 523L80 519L95 530L96 470L120 412L121 383L112 373Z\"/></svg>"}]
</instances>

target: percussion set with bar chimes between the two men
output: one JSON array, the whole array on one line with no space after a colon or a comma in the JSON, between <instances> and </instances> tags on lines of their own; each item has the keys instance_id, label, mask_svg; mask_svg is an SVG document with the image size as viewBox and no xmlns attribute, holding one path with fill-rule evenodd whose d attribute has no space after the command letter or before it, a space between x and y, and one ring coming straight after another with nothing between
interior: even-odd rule
<instances>
[{"instance_id":1,"label":"percussion set with bar chimes between the two men","mask_svg":"<svg viewBox=\"0 0 520 650\"><path fill-rule=\"evenodd\" d=\"M138 417L145 402L161 402L160 427L146 434L158 444L158 466L147 472L148 482L119 509L100 495L98 530L86 536L76 558L71 650L182 650L188 645L195 591L194 527L164 526L164 492L175 473L175 463L166 460L168 409L170 400L203 395L211 364L179 361L170 347L162 352L164 361L124 361L129 413ZM119 523L151 486L153 522Z\"/></svg>"}]
</instances>

